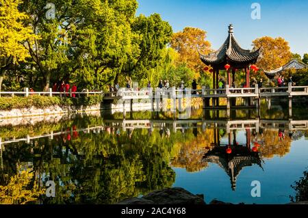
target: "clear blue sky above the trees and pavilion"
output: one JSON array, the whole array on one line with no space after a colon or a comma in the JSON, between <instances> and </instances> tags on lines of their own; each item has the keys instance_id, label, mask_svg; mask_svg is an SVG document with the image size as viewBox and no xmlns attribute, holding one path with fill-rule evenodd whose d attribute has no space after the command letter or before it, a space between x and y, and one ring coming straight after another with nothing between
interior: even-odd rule
<instances>
[{"instance_id":1,"label":"clear blue sky above the trees and pavilion","mask_svg":"<svg viewBox=\"0 0 308 218\"><path fill-rule=\"evenodd\" d=\"M244 49L261 36L281 36L293 53L308 53L307 0L138 0L137 14L161 14L173 31L198 27L207 31L207 40L218 49L227 38L227 27L234 25L235 38ZM252 3L261 5L261 19L251 18Z\"/></svg>"}]
</instances>

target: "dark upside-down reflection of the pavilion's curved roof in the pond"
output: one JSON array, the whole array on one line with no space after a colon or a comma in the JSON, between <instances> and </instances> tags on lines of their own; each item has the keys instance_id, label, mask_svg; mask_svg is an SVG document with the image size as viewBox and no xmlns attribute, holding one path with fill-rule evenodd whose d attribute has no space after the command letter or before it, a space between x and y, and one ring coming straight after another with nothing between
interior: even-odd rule
<instances>
[{"instance_id":1,"label":"dark upside-down reflection of the pavilion's curved roof in the pond","mask_svg":"<svg viewBox=\"0 0 308 218\"><path fill-rule=\"evenodd\" d=\"M203 156L203 161L216 163L222 167L230 177L231 189L234 191L240 171L253 164L262 168L261 158L258 152L251 151L248 146L233 146L231 154L227 154L227 148L227 146L215 146Z\"/></svg>"}]
</instances>

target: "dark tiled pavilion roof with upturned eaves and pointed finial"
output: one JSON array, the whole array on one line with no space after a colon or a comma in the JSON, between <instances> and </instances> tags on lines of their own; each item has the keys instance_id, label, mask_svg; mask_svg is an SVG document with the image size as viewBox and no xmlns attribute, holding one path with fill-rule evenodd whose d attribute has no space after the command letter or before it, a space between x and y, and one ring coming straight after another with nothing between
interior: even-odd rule
<instances>
[{"instance_id":1,"label":"dark tiled pavilion roof with upturned eaves and pointed finial","mask_svg":"<svg viewBox=\"0 0 308 218\"><path fill-rule=\"evenodd\" d=\"M201 61L211 66L224 66L224 64L255 64L260 55L260 49L250 51L242 49L233 36L233 25L229 25L229 36L218 51L203 55L199 53Z\"/></svg>"}]
</instances>

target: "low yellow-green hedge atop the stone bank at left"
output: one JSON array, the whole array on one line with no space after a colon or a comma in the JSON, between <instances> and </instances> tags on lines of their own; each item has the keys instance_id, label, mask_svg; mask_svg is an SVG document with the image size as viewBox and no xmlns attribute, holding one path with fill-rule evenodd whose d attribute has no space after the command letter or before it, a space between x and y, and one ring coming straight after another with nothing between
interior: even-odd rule
<instances>
[{"instance_id":1,"label":"low yellow-green hedge atop the stone bank at left","mask_svg":"<svg viewBox=\"0 0 308 218\"><path fill-rule=\"evenodd\" d=\"M76 106L84 107L97 105L103 100L102 96L82 96L80 98L60 98L57 96L29 96L29 97L1 97L0 110L23 109L36 107L44 109L51 106Z\"/></svg>"}]
</instances>

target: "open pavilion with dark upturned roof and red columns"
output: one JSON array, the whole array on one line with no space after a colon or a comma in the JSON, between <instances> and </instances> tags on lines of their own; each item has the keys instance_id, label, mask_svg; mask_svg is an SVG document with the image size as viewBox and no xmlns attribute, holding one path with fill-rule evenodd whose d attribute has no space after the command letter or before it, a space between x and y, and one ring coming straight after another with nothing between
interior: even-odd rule
<instances>
[{"instance_id":1,"label":"open pavilion with dark upturned roof and red columns","mask_svg":"<svg viewBox=\"0 0 308 218\"><path fill-rule=\"evenodd\" d=\"M245 70L245 84L246 87L250 87L250 66L257 62L260 49L257 49L257 51L242 49L233 36L233 25L231 24L229 25L229 36L218 51L209 53L209 55L203 55L201 53L199 55L204 64L213 68L210 70L210 72L213 72L213 88L218 87L219 70L227 70L227 85L231 86L235 82L235 71L238 69ZM232 72L232 82L230 71Z\"/></svg>"}]
</instances>

